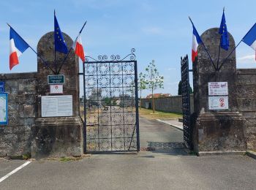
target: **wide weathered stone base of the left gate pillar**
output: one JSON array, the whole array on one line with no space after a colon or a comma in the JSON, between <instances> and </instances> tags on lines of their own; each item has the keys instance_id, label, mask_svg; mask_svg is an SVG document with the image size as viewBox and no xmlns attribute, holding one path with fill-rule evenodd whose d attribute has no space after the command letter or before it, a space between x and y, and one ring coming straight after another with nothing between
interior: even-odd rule
<instances>
[{"instance_id":1,"label":"wide weathered stone base of the left gate pillar","mask_svg":"<svg viewBox=\"0 0 256 190\"><path fill-rule=\"evenodd\" d=\"M79 117L38 118L34 126L32 156L80 156L83 153L83 122Z\"/></svg>"}]
</instances>

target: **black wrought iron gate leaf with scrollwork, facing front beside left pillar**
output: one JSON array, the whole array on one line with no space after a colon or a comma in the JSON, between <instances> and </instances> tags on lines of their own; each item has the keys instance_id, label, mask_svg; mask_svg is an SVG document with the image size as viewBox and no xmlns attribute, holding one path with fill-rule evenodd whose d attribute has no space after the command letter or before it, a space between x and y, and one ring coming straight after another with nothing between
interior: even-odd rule
<instances>
[{"instance_id":1,"label":"black wrought iron gate leaf with scrollwork, facing front beside left pillar","mask_svg":"<svg viewBox=\"0 0 256 190\"><path fill-rule=\"evenodd\" d=\"M135 49L124 58L86 56L83 84L84 151L139 151Z\"/></svg>"}]
</instances>

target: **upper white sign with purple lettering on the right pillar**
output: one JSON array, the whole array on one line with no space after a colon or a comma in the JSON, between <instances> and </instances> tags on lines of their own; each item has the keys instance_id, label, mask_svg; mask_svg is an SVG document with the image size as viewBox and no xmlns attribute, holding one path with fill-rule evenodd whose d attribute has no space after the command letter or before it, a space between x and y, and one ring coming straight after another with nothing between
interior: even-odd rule
<instances>
[{"instance_id":1,"label":"upper white sign with purple lettering on the right pillar","mask_svg":"<svg viewBox=\"0 0 256 190\"><path fill-rule=\"evenodd\" d=\"M208 95L209 96L228 95L227 82L208 83Z\"/></svg>"}]
</instances>

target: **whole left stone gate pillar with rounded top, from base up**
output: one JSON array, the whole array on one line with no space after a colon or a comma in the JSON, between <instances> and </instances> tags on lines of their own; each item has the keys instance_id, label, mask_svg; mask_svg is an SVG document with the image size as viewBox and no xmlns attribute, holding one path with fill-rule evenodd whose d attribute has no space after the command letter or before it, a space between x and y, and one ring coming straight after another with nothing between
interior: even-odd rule
<instances>
[{"instance_id":1,"label":"whole left stone gate pillar with rounded top, from base up","mask_svg":"<svg viewBox=\"0 0 256 190\"><path fill-rule=\"evenodd\" d=\"M55 70L54 64L54 33L45 34L38 42L37 53L45 59L48 65ZM67 47L72 46L72 39L64 34ZM56 63L58 68L64 60L64 53L56 53ZM83 121L79 116L79 80L78 80L79 64L78 58L75 57L73 50L69 53L67 61L61 69L60 75L64 75L63 94L50 94L50 86L48 84L48 75L54 75L50 69L37 58L37 109L38 115L34 127L34 140L32 143L32 157L39 158L45 156L80 156L83 153ZM54 115L54 109L64 110L65 95L69 95L69 107L71 110L68 116ZM71 96L70 96L71 95ZM53 96L53 99L49 99ZM48 104L42 102L45 97ZM62 98L61 100L54 97ZM72 98L72 102L70 101ZM62 101L62 102L60 102ZM42 113L42 105L44 104L45 113ZM53 110L48 107L53 107ZM58 107L59 106L59 107ZM62 106L62 107L61 107ZM53 111L53 115L47 115L47 112ZM64 115L67 113L64 113Z\"/></svg>"}]
</instances>

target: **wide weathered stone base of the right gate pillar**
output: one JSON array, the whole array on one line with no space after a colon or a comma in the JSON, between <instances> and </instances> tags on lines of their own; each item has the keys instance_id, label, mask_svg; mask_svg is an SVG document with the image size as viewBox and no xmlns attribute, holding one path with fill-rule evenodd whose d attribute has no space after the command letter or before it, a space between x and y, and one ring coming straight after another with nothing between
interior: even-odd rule
<instances>
[{"instance_id":1,"label":"wide weathered stone base of the right gate pillar","mask_svg":"<svg viewBox=\"0 0 256 190\"><path fill-rule=\"evenodd\" d=\"M244 118L239 113L200 113L196 126L199 151L243 151Z\"/></svg>"}]
</instances>

